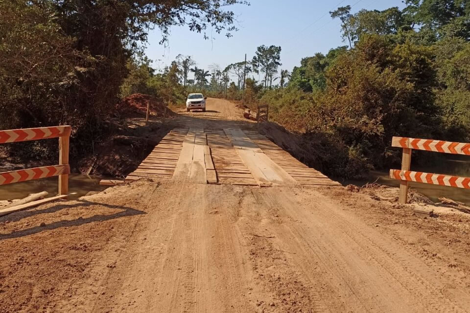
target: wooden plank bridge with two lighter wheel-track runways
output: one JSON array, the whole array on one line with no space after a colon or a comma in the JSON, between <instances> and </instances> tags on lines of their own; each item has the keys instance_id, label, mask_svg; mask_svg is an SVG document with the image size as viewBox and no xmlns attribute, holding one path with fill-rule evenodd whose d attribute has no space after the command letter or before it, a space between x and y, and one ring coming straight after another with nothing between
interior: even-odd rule
<instances>
[{"instance_id":1,"label":"wooden plank bridge with two lighter wheel-track runways","mask_svg":"<svg viewBox=\"0 0 470 313\"><path fill-rule=\"evenodd\" d=\"M169 132L126 180L270 186L340 186L254 131L184 129Z\"/></svg>"}]
</instances>

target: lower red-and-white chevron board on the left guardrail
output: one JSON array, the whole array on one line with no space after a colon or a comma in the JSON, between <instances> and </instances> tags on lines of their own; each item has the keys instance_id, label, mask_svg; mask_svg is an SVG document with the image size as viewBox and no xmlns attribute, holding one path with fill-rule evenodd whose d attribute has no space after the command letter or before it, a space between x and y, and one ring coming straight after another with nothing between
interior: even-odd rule
<instances>
[{"instance_id":1,"label":"lower red-and-white chevron board on the left guardrail","mask_svg":"<svg viewBox=\"0 0 470 313\"><path fill-rule=\"evenodd\" d=\"M11 171L0 173L0 185L11 184L14 182L41 179L46 177L70 174L70 166L66 165L53 165L30 168L26 170Z\"/></svg>"}]
</instances>

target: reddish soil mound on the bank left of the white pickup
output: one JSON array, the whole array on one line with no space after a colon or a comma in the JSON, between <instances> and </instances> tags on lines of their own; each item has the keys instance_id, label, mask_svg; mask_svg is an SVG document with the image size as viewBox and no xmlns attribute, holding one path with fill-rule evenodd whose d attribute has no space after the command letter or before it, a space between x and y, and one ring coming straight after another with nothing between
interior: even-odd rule
<instances>
[{"instance_id":1,"label":"reddish soil mound on the bank left of the white pickup","mask_svg":"<svg viewBox=\"0 0 470 313\"><path fill-rule=\"evenodd\" d=\"M134 93L125 97L116 105L116 110L120 115L139 114L145 115L147 113L147 103L150 103L150 112L154 116L163 116L165 104L161 99L157 99L148 94ZM174 112L166 110L167 116L175 115Z\"/></svg>"}]
</instances>

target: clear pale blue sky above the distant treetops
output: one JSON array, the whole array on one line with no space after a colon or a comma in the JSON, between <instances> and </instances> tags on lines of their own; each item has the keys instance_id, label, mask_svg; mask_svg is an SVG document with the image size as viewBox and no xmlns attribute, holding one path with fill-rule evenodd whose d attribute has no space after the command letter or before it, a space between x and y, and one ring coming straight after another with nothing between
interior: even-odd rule
<instances>
[{"instance_id":1,"label":"clear pale blue sky above the distant treetops","mask_svg":"<svg viewBox=\"0 0 470 313\"><path fill-rule=\"evenodd\" d=\"M300 60L315 52L345 45L341 40L340 22L332 20L329 11L338 6L351 5L352 13L360 9L383 10L398 6L401 0L251 0L250 6L235 5L239 30L233 37L207 33L213 40L204 40L202 34L187 27L173 27L168 47L159 45L161 32L150 32L147 56L154 67L163 68L178 54L190 55L198 67L209 69L212 63L221 68L243 61L245 53L250 60L259 45L281 45L282 69L292 70ZM160 61L155 61L160 60Z\"/></svg>"}]
</instances>

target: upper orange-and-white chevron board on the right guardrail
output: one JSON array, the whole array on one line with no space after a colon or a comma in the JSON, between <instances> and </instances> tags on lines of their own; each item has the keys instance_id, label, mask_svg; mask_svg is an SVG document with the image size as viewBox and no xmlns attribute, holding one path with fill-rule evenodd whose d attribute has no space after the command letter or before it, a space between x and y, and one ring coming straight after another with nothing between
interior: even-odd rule
<instances>
[{"instance_id":1,"label":"upper orange-and-white chevron board on the right guardrail","mask_svg":"<svg viewBox=\"0 0 470 313\"><path fill-rule=\"evenodd\" d=\"M452 153L470 156L470 143L451 142L433 139L393 137L392 147Z\"/></svg>"}]
</instances>

